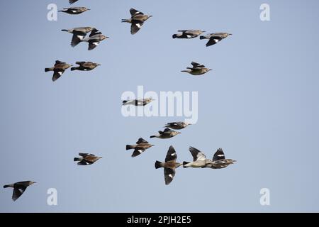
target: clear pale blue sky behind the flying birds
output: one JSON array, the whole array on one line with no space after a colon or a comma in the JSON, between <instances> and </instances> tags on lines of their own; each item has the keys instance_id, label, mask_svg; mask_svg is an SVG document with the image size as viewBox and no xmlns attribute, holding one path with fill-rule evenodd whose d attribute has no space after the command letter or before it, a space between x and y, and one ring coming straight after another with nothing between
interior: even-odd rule
<instances>
[{"instance_id":1,"label":"clear pale blue sky behind the flying birds","mask_svg":"<svg viewBox=\"0 0 319 227\"><path fill-rule=\"evenodd\" d=\"M318 7L308 1L89 1L91 11L58 14L47 5L67 0L0 1L1 186L34 180L18 201L1 189L4 212L220 212L319 211ZM259 19L267 3L271 21ZM151 14L130 35L133 7ZM61 29L94 26L109 36L95 50L71 48ZM173 40L179 29L228 32L206 48L205 40ZM44 72L55 60L92 61L91 72L70 72L53 83ZM181 73L191 61L213 69L203 77ZM125 118L123 92L198 92L198 122L181 135L150 139L179 117ZM126 144L155 144L130 157ZM211 158L217 148L237 160L223 170L177 169L164 184L169 145L179 162L192 159L189 146ZM77 153L103 156L79 167ZM47 189L58 205L47 205ZM259 190L270 190L270 206Z\"/></svg>"}]
</instances>

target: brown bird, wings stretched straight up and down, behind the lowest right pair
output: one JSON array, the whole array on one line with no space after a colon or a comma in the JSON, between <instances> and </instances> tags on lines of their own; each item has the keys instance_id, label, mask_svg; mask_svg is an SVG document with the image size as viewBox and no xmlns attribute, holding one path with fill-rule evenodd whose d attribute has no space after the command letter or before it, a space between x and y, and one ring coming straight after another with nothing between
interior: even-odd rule
<instances>
[{"instance_id":1,"label":"brown bird, wings stretched straight up and down, behind the lowest right pair","mask_svg":"<svg viewBox=\"0 0 319 227\"><path fill-rule=\"evenodd\" d=\"M164 180L165 184L168 185L172 182L175 176L175 169L181 166L181 163L176 162L177 160L177 153L173 146L169 147L167 151L167 155L165 158L165 162L155 162L155 169L164 168Z\"/></svg>"}]
</instances>

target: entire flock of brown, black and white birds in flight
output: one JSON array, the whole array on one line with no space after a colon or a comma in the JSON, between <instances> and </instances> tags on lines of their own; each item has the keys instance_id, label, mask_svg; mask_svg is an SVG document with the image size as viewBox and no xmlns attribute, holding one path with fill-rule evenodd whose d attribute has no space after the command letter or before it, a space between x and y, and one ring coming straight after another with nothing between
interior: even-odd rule
<instances>
[{"instance_id":1,"label":"entire flock of brown, black and white birds in flight","mask_svg":"<svg viewBox=\"0 0 319 227\"><path fill-rule=\"evenodd\" d=\"M78 0L69 0L69 4L74 4ZM80 13L84 13L85 11L89 11L90 9L87 9L86 7L70 7L65 8L60 12L68 13L72 15L77 15ZM151 18L152 16L145 15L141 11L137 11L135 9L130 9L131 17L129 19L122 19L121 22L123 23L130 23L130 33L134 35L135 33L138 33L140 31L140 28L142 28L143 24L147 19ZM79 28L72 28L72 29L62 29L62 31L65 31L67 33L72 34L72 41L71 46L75 47L79 43L89 43L88 50L93 50L96 48L101 41L108 38L106 35L103 35L99 30L96 28L91 27L79 27ZM205 33L205 31L200 30L179 30L179 33L172 35L172 38L183 38L183 39L189 39L189 38L196 38L202 33ZM89 37L86 37L86 35L90 33ZM223 40L224 38L227 38L230 33L211 33L208 35L201 35L199 38L202 39L208 39L208 43L206 43L206 46L214 45L220 40ZM80 70L80 71L90 71L94 70L96 67L99 66L99 64L94 62L76 62L77 67L72 67L73 65L69 65L66 62L62 62L60 60L56 60L55 65L53 67L47 67L45 68L45 72L53 72L52 81L55 82L57 79L59 79L62 74L65 72L65 70L69 69L71 67L71 71L74 70ZM191 62L192 67L187 67L186 70L182 70L181 72L187 72L192 75L202 75L206 72L211 71L211 69L206 68L204 65L197 63L197 62ZM135 99L135 100L125 100L123 101L123 105L134 105L134 106L145 106L147 104L150 104L152 101L152 97L149 99ZM159 131L157 135L151 135L150 138L161 138L161 139L168 139L172 138L175 135L180 134L180 132L174 131L174 130L181 130L189 126L190 123L185 122L172 122L167 123L165 126L164 131ZM152 148L154 145L147 142L147 140L144 140L143 138L139 138L138 142L136 142L135 145L126 145L126 150L134 150L132 157L136 157L140 154L142 154L145 150L148 148ZM191 155L193 156L192 162L183 162L182 164L177 162L177 153L174 149L174 147L171 145L169 147L169 150L167 151L166 158L164 162L155 162L155 168L164 168L164 181L165 184L169 184L172 182L174 176L175 176L175 169L179 166L186 167L194 167L194 168L211 168L211 169L222 169L225 167L228 167L228 165L233 164L236 162L235 160L226 159L225 155L223 153L222 148L219 148L216 153L213 155L213 159L209 160L206 159L206 155L202 153L200 150L190 147L189 151ZM94 162L101 159L101 157L98 157L93 154L89 153L79 153L80 157L74 157L74 162L77 162L77 165L92 165ZM33 181L24 181L24 182L16 182L13 184L6 184L4 185L4 188L11 187L13 188L13 201L16 201L23 192L26 191L26 188L30 185L34 184Z\"/></svg>"}]
</instances>

